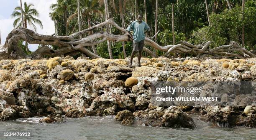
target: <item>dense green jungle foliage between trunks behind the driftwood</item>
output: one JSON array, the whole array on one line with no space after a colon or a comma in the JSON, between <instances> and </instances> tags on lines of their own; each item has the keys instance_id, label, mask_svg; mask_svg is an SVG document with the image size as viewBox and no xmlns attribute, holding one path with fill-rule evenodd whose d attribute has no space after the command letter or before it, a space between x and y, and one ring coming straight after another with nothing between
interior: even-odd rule
<instances>
[{"instance_id":1,"label":"dense green jungle foliage between trunks behind the driftwood","mask_svg":"<svg viewBox=\"0 0 256 140\"><path fill-rule=\"evenodd\" d=\"M122 0L121 0L122 1ZM124 1L124 0L123 0ZM144 15L144 1L138 1L138 13ZM80 0L81 26L82 29L97 25L105 18L104 2L102 0ZM121 27L120 6L118 0L108 0L110 17ZM150 36L154 35L155 29L155 0L146 0L147 23L151 28ZM245 19L241 20L241 0L229 0L232 10L229 10L226 0L207 0L212 25L208 25L205 0L158 0L158 30L160 30L157 42L161 46L173 44L172 42L172 3L174 3L174 30L175 42L180 40L188 41L193 44L202 44L209 40L212 41L211 47L218 47L228 44L230 40L241 44L242 24L245 24L246 48L252 49L256 46L256 12L255 0L246 0ZM124 7L125 27L135 20L135 0L126 0ZM78 31L77 0L57 0L57 4L52 5L50 17L56 20L58 35L66 35L66 25L64 13L68 18L68 34ZM106 29L102 29L106 31ZM100 29L94 30L100 32ZM108 31L109 32L109 31ZM120 30L112 26L112 34L123 34ZM88 34L84 34L86 37ZM96 46L95 46L96 47ZM53 46L53 49L59 47ZM131 55L132 42L125 42L127 56ZM92 51L92 47L87 47ZM97 53L103 58L109 58L107 42L97 44ZM152 47L148 47L153 51ZM112 46L114 58L123 58L122 42L114 42ZM157 55L164 52L157 51ZM143 55L146 55L143 52ZM186 55L186 54L184 54Z\"/></svg>"}]
</instances>

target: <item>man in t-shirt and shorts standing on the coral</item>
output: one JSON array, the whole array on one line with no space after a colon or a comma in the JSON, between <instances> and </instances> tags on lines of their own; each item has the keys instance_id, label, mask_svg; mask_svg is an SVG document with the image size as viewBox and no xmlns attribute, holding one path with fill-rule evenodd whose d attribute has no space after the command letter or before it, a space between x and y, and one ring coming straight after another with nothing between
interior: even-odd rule
<instances>
[{"instance_id":1,"label":"man in t-shirt and shorts standing on the coral","mask_svg":"<svg viewBox=\"0 0 256 140\"><path fill-rule=\"evenodd\" d=\"M135 53L138 51L138 66L141 66L141 53L144 47L145 34L150 31L149 26L146 22L142 21L143 15L138 14L138 18L136 21L133 21L131 25L127 27L127 31L133 40L133 52L131 54L129 67L132 67L132 61ZM133 34L131 34L131 30L133 30Z\"/></svg>"}]
</instances>

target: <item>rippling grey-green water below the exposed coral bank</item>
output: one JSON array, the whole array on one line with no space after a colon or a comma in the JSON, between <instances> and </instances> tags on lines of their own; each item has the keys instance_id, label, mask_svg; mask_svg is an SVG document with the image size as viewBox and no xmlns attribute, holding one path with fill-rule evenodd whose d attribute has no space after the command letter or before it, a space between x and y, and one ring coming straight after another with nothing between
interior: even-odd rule
<instances>
[{"instance_id":1,"label":"rippling grey-green water below the exposed coral bank","mask_svg":"<svg viewBox=\"0 0 256 140\"><path fill-rule=\"evenodd\" d=\"M197 130L121 125L114 116L65 118L64 123L38 123L40 118L0 121L0 140L256 140L256 128L219 128L193 117ZM30 136L4 136L4 133Z\"/></svg>"}]
</instances>

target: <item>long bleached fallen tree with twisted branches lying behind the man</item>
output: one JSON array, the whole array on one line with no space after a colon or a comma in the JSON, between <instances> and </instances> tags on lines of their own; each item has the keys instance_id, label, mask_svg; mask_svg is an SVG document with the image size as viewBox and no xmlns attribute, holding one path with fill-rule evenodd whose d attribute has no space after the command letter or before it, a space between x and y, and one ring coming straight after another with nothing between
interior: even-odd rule
<instances>
[{"instance_id":1,"label":"long bleached fallen tree with twisted branches lying behind the man","mask_svg":"<svg viewBox=\"0 0 256 140\"><path fill-rule=\"evenodd\" d=\"M108 32L95 32L94 34L89 34L88 36L79 38L80 35L86 34L92 30L102 28L106 25L113 25L120 31L123 35L110 34ZM22 49L20 49L17 44L20 39L25 40L29 44L42 44L43 46L38 48L35 52L30 55L26 55ZM33 32L30 29L24 27L15 28L8 34L5 44L0 45L0 59L40 59L43 56L60 56L67 54L77 54L81 52L89 56L90 58L101 58L97 54L90 52L86 49L86 46L93 46L102 43L106 40L109 41L131 41L128 32L119 27L113 20L107 20L98 25L84 29L82 31L76 32L69 36L52 36L52 35L42 35ZM145 39L145 44L151 46L160 51L166 52L164 56L170 53L180 53L180 54L195 54L197 57L237 57L237 58L250 58L256 57L255 54L249 52L245 48L236 42L231 41L229 45L223 45L214 49L209 49L210 41L203 45L193 45L188 42L180 41L177 45L167 45L160 46L152 41L150 38ZM52 50L45 45L58 46L59 49ZM154 53L144 47L143 50L148 53L151 57L156 57Z\"/></svg>"}]
</instances>

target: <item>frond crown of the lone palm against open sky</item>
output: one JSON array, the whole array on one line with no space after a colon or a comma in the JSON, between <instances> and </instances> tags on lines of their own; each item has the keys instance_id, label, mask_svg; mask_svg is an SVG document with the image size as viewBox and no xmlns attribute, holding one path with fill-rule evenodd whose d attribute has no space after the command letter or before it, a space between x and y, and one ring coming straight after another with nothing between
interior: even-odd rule
<instances>
[{"instance_id":1,"label":"frond crown of the lone palm against open sky","mask_svg":"<svg viewBox=\"0 0 256 140\"><path fill-rule=\"evenodd\" d=\"M20 7L15 7L15 11L11 14L11 17L18 17L17 19L14 20L13 22L13 27L21 26L22 21L24 21L24 27L27 28L27 24L33 26L33 28L36 31L36 24L38 24L41 29L43 28L41 20L38 20L34 16L38 17L39 14L36 9L31 8L31 6L34 6L33 4L27 5L26 2L24 2L24 10L20 10ZM21 12L23 12L23 16ZM24 19L24 20L22 20ZM20 23L18 23L20 22ZM34 22L34 23L33 23Z\"/></svg>"}]
</instances>

